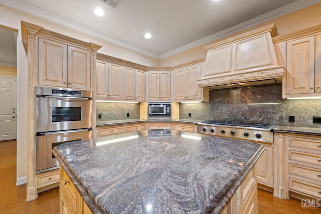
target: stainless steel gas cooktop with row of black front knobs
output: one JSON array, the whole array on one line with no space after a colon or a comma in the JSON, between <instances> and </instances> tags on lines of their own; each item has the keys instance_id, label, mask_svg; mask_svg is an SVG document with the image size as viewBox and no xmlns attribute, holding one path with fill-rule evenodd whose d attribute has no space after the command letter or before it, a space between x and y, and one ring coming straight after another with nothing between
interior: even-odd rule
<instances>
[{"instance_id":1,"label":"stainless steel gas cooktop with row of black front knobs","mask_svg":"<svg viewBox=\"0 0 321 214\"><path fill-rule=\"evenodd\" d=\"M222 137L273 143L274 125L210 120L197 124L197 132Z\"/></svg>"}]
</instances>

